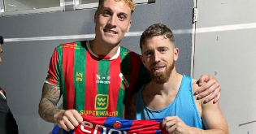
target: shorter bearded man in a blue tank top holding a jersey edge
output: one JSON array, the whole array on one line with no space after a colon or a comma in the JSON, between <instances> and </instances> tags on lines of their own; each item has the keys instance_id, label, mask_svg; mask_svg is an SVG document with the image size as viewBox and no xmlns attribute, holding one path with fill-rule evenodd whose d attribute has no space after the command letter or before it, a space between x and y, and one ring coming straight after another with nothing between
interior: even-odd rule
<instances>
[{"instance_id":1,"label":"shorter bearded man in a blue tank top holding a jersey edge","mask_svg":"<svg viewBox=\"0 0 256 134\"><path fill-rule=\"evenodd\" d=\"M171 29L153 24L141 35L141 61L151 76L133 97L132 119L163 119L162 127L171 134L227 134L228 124L219 102L205 103L193 95L197 80L181 75L175 63L179 49ZM135 98L135 99L134 99Z\"/></svg>"}]
</instances>

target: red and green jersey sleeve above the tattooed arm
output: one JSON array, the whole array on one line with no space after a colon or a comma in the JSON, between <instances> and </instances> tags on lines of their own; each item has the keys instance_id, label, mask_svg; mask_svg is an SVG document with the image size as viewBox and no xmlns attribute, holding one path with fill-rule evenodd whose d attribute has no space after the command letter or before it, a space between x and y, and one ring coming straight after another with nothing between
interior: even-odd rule
<instances>
[{"instance_id":1,"label":"red and green jersey sleeve above the tattooed arm","mask_svg":"<svg viewBox=\"0 0 256 134\"><path fill-rule=\"evenodd\" d=\"M59 78L60 78L59 65L60 65L59 54L58 54L58 51L54 49L54 53L50 58L50 65L49 65L48 76L46 77L46 80L50 84L54 84L57 86L59 86Z\"/></svg>"}]
</instances>

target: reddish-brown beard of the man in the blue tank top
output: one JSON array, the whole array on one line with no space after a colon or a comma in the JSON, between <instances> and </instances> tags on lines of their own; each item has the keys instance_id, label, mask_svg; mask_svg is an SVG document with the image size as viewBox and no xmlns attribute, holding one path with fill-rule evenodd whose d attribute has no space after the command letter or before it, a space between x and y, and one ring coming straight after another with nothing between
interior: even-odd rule
<instances>
[{"instance_id":1,"label":"reddish-brown beard of the man in the blue tank top","mask_svg":"<svg viewBox=\"0 0 256 134\"><path fill-rule=\"evenodd\" d=\"M154 63L154 65L152 65L152 66L155 66L155 65L156 65L156 63ZM164 84L169 80L169 78L171 76L171 71L173 70L174 65L175 65L175 61L173 61L173 63L167 67L167 70L163 71L163 72L153 72L148 68L146 70L148 71L151 79L154 80L155 83Z\"/></svg>"}]
</instances>

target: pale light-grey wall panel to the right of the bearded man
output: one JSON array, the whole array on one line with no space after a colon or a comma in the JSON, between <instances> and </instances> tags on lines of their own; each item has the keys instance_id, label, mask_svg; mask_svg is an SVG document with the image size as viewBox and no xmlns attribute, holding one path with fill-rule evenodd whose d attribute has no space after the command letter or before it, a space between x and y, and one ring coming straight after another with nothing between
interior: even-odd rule
<instances>
[{"instance_id":1,"label":"pale light-grey wall panel to the right of the bearded man","mask_svg":"<svg viewBox=\"0 0 256 134\"><path fill-rule=\"evenodd\" d=\"M256 133L256 1L197 0L194 78L215 76L232 134Z\"/></svg>"}]
</instances>

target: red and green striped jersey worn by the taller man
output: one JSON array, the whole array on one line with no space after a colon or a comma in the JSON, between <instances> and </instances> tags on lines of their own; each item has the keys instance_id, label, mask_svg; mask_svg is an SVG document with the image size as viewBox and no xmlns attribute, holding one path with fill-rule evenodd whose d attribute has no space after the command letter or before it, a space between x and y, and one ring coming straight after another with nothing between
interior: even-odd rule
<instances>
[{"instance_id":1,"label":"red and green striped jersey worn by the taller man","mask_svg":"<svg viewBox=\"0 0 256 134\"><path fill-rule=\"evenodd\" d=\"M56 47L48 73L46 80L61 89L64 110L98 117L124 118L132 89L149 81L140 55L120 46L115 56L104 58L93 53L89 41Z\"/></svg>"}]
</instances>

